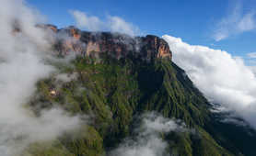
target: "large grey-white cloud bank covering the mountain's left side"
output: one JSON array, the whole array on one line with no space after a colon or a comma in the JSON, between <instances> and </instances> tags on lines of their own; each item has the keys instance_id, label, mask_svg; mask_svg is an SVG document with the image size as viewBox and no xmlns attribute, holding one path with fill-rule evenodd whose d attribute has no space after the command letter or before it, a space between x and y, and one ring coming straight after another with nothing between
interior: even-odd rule
<instances>
[{"instance_id":1,"label":"large grey-white cloud bank covering the mountain's left side","mask_svg":"<svg viewBox=\"0 0 256 156\"><path fill-rule=\"evenodd\" d=\"M22 0L2 0L0 18L0 155L11 156L29 143L78 128L80 119L60 108L42 110L40 117L24 108L36 83L55 72L46 63L52 37L35 27L43 17Z\"/></svg>"}]
</instances>

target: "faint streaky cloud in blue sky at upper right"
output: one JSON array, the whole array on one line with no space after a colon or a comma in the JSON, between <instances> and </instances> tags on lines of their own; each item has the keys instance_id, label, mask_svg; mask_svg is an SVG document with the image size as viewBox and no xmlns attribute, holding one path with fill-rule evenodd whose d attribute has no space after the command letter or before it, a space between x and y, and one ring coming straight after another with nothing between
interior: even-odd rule
<instances>
[{"instance_id":1,"label":"faint streaky cloud in blue sky at upper right","mask_svg":"<svg viewBox=\"0 0 256 156\"><path fill-rule=\"evenodd\" d=\"M223 17L216 25L213 38L216 41L227 39L229 36L251 31L255 26L255 12L250 10L243 12L241 4L237 4L233 10Z\"/></svg>"}]
</instances>

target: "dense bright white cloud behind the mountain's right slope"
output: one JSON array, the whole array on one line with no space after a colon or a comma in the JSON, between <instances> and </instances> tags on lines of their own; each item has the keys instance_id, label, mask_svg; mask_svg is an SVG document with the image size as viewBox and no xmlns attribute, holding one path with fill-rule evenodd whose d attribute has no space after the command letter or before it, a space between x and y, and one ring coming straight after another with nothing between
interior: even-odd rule
<instances>
[{"instance_id":1,"label":"dense bright white cloud behind the mountain's right slope","mask_svg":"<svg viewBox=\"0 0 256 156\"><path fill-rule=\"evenodd\" d=\"M241 58L168 35L163 39L173 51L173 61L210 101L235 111L256 128L256 77Z\"/></svg>"}]
</instances>

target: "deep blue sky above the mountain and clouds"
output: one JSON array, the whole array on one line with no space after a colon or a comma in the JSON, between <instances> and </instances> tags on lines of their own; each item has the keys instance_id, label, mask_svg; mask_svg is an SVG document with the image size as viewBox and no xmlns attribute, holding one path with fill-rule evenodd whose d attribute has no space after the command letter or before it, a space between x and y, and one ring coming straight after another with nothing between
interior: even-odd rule
<instances>
[{"instance_id":1,"label":"deep blue sky above the mountain and clouds","mask_svg":"<svg viewBox=\"0 0 256 156\"><path fill-rule=\"evenodd\" d=\"M244 57L256 52L254 23L256 0L28 0L49 23L76 25L70 10L88 16L117 16L138 27L143 34L179 37L193 45L227 50ZM254 7L253 7L254 6ZM242 28L241 28L241 27ZM223 35L216 38L216 35ZM223 37L223 39L222 39Z\"/></svg>"}]
</instances>

